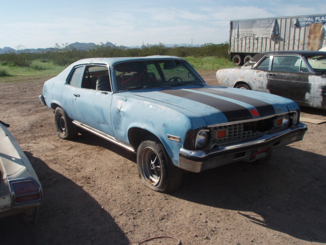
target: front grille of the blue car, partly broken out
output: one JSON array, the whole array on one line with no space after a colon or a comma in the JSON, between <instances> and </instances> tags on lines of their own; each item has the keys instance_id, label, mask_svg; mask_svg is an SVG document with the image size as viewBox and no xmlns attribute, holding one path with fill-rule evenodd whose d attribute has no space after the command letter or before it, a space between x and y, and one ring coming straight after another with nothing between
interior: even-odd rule
<instances>
[{"instance_id":1,"label":"front grille of the blue car, partly broken out","mask_svg":"<svg viewBox=\"0 0 326 245\"><path fill-rule=\"evenodd\" d=\"M212 144L219 142L236 141L241 139L246 139L250 137L255 137L263 134L267 131L274 129L273 118L267 118L258 121L243 122L239 124L225 125L220 127L211 128L211 140ZM220 130L227 130L228 134L225 138L217 138L217 132Z\"/></svg>"}]
</instances>

